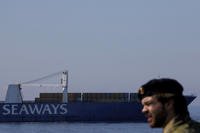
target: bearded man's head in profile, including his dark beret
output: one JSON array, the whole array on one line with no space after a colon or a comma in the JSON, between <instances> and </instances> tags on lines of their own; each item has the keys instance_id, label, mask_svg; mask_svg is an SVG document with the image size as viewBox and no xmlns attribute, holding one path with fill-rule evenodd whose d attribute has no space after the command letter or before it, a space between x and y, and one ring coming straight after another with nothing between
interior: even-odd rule
<instances>
[{"instance_id":1,"label":"bearded man's head in profile, including his dark beret","mask_svg":"<svg viewBox=\"0 0 200 133\"><path fill-rule=\"evenodd\" d=\"M164 127L177 115L189 115L182 85L169 78L153 79L142 85L138 97L151 127Z\"/></svg>"}]
</instances>

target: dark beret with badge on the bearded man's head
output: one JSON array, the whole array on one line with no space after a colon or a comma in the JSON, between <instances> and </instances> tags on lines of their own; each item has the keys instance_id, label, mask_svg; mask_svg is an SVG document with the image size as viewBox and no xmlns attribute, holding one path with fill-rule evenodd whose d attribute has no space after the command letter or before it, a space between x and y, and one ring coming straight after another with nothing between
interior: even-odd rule
<instances>
[{"instance_id":1,"label":"dark beret with badge on the bearded man's head","mask_svg":"<svg viewBox=\"0 0 200 133\"><path fill-rule=\"evenodd\" d=\"M142 85L138 90L138 97L140 100L146 96L162 94L165 96L182 95L182 85L169 78L152 79L146 84Z\"/></svg>"}]
</instances>

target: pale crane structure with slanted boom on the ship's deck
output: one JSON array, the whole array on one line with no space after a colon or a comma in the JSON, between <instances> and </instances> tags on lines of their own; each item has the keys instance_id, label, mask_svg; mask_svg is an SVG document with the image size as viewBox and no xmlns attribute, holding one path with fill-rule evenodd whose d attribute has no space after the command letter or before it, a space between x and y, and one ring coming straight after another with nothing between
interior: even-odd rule
<instances>
[{"instance_id":1,"label":"pale crane structure with slanted boom on the ship's deck","mask_svg":"<svg viewBox=\"0 0 200 133\"><path fill-rule=\"evenodd\" d=\"M41 80L45 80L48 78L51 78L53 76L56 75L61 75L60 78L60 83L56 83L56 84L47 84L47 83L36 83L38 81ZM22 98L22 93L21 93L21 89L23 87L26 86L31 86L31 87L62 87L63 89L63 103L67 103L68 102L68 71L64 70L64 71L59 71L38 79L34 79L34 80L30 80L30 81L26 81L26 82L22 82L19 84L10 84L8 85L8 90L7 90L7 94L6 94L6 99L5 99L5 103L22 103L23 102L23 98Z\"/></svg>"}]
</instances>

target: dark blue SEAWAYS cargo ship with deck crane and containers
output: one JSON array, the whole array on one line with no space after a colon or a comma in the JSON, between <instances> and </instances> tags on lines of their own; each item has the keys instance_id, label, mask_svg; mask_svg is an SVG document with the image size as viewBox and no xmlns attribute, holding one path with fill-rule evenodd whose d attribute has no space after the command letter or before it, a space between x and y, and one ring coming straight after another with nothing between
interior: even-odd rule
<instances>
[{"instance_id":1,"label":"dark blue SEAWAYS cargo ship with deck crane and containers","mask_svg":"<svg viewBox=\"0 0 200 133\"><path fill-rule=\"evenodd\" d=\"M21 89L30 83L8 86L5 101L0 103L0 122L146 122L137 93L70 93L64 71L60 85L54 84L63 88L62 93L40 93L33 101L24 101ZM196 97L185 98L190 104Z\"/></svg>"}]
</instances>

